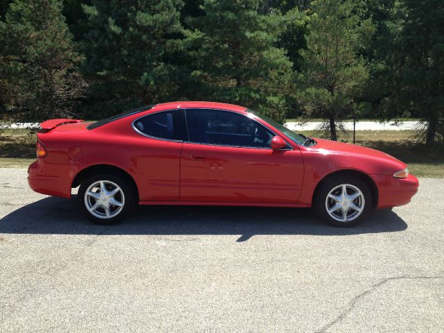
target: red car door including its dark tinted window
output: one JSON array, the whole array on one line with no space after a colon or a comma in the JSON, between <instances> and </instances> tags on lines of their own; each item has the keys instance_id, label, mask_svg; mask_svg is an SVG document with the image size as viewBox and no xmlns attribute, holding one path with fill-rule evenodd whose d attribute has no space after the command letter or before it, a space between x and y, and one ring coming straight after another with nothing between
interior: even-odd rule
<instances>
[{"instance_id":1,"label":"red car door including its dark tinted window","mask_svg":"<svg viewBox=\"0 0 444 333\"><path fill-rule=\"evenodd\" d=\"M275 135L229 110L181 110L187 133L180 157L180 200L296 203L303 178L300 151L272 150Z\"/></svg>"}]
</instances>

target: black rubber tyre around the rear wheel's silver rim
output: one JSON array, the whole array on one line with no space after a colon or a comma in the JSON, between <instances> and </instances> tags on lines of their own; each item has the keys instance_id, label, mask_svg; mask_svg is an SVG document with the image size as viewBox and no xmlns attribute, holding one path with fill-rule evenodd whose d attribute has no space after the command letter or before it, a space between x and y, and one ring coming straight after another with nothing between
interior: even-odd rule
<instances>
[{"instance_id":1,"label":"black rubber tyre around the rear wheel's silver rim","mask_svg":"<svg viewBox=\"0 0 444 333\"><path fill-rule=\"evenodd\" d=\"M117 187L114 187L114 185L117 185L121 191L118 191L117 194L112 197L115 201L109 201L106 198L99 198L96 199L92 196L87 196L85 198L85 192L89 187L96 184L97 182L103 181L103 185L105 189L110 189L108 193L112 193L113 189L117 189ZM114 185L112 184L114 183ZM99 187L96 189L100 189ZM92 189L94 191L94 188ZM100 192L96 192L99 194ZM133 210L135 206L135 191L133 188L128 184L128 182L120 178L118 176L114 176L110 173L98 173L92 176L87 177L85 180L83 180L80 184L80 188L78 189L78 203L81 207L81 210L85 216L93 221L94 223L101 224L101 225L110 225L115 224L121 221L123 218L128 216L130 212ZM110 199L110 200L112 200ZM91 212L87 205L97 203L98 201L103 200L103 207L98 207L94 213ZM112 203L121 203L121 206L113 205ZM101 205L101 203L99 203ZM93 205L94 207L94 205ZM93 208L91 207L91 208ZM110 217L106 217L106 210L105 207L108 207L107 210L109 210ZM103 215L103 216L94 216L94 214ZM114 216L112 216L115 214Z\"/></svg>"}]
</instances>

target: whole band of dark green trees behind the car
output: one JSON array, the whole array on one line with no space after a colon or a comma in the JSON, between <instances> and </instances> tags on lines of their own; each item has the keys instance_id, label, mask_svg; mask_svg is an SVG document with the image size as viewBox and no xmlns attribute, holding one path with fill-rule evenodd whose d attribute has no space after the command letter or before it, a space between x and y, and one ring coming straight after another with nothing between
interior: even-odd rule
<instances>
[{"instance_id":1,"label":"whole band of dark green trees behind the car","mask_svg":"<svg viewBox=\"0 0 444 333\"><path fill-rule=\"evenodd\" d=\"M278 121L423 121L444 135L442 0L1 0L3 119L223 101Z\"/></svg>"}]
</instances>

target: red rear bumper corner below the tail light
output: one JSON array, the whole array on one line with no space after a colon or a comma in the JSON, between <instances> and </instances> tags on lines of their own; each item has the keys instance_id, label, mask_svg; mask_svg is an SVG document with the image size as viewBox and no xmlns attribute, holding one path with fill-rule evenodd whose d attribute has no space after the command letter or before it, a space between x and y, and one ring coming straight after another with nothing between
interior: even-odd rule
<instances>
[{"instance_id":1,"label":"red rear bumper corner below the tail light","mask_svg":"<svg viewBox=\"0 0 444 333\"><path fill-rule=\"evenodd\" d=\"M71 198L74 169L74 165L49 164L43 158L38 158L28 167L29 187L41 194Z\"/></svg>"}]
</instances>

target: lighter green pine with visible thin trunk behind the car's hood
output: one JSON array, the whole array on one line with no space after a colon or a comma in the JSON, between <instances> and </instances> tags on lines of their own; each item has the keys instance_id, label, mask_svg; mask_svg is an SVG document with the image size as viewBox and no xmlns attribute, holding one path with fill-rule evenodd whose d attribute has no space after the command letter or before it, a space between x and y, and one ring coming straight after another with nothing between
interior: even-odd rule
<instances>
[{"instance_id":1,"label":"lighter green pine with visible thin trunk behind the car's hood","mask_svg":"<svg viewBox=\"0 0 444 333\"><path fill-rule=\"evenodd\" d=\"M370 40L373 26L368 20L359 22L348 0L314 1L312 6L307 49L301 51L300 82L305 89L298 99L305 117L325 119L323 130L336 140L341 121L359 108L368 80L368 65L359 51Z\"/></svg>"}]
</instances>

